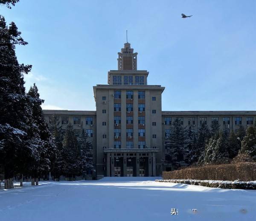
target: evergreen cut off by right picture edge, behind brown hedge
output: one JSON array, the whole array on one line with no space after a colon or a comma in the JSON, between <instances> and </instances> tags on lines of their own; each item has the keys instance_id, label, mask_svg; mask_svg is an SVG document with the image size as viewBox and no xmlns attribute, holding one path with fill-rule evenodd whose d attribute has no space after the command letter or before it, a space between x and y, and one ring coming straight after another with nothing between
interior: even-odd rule
<instances>
[{"instance_id":1,"label":"evergreen cut off by right picture edge, behind brown hedge","mask_svg":"<svg viewBox=\"0 0 256 221\"><path fill-rule=\"evenodd\" d=\"M242 153L249 154L256 161L256 129L248 126L246 135L242 141Z\"/></svg>"}]
</instances>

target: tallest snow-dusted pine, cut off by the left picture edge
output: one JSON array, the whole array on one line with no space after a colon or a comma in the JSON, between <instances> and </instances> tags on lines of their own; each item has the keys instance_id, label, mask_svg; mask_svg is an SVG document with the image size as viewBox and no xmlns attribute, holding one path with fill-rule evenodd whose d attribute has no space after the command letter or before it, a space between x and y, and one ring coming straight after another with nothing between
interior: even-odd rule
<instances>
[{"instance_id":1,"label":"tallest snow-dusted pine, cut off by the left picture edge","mask_svg":"<svg viewBox=\"0 0 256 221\"><path fill-rule=\"evenodd\" d=\"M28 74L32 66L19 64L15 55L16 44L27 44L20 34L15 23L6 26L0 16L0 162L6 188L13 187L18 162L28 162L20 157L30 155L39 142L23 80L23 74Z\"/></svg>"}]
</instances>

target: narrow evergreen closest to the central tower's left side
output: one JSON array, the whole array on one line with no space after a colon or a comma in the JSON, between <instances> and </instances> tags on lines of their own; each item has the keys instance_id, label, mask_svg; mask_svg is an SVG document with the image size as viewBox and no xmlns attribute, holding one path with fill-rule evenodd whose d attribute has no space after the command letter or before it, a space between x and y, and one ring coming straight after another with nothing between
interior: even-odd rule
<instances>
[{"instance_id":1,"label":"narrow evergreen closest to the central tower's left side","mask_svg":"<svg viewBox=\"0 0 256 221\"><path fill-rule=\"evenodd\" d=\"M88 136L84 129L79 136L78 142L81 149L82 171L88 174L93 169L93 146L92 142L88 141Z\"/></svg>"}]
</instances>

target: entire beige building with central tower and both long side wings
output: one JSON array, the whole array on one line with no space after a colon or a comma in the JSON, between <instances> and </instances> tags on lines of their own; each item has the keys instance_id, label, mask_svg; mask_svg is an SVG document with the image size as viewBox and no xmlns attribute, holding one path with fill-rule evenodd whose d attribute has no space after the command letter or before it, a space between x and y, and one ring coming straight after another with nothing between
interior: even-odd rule
<instances>
[{"instance_id":1,"label":"entire beige building with central tower and both long side wings","mask_svg":"<svg viewBox=\"0 0 256 221\"><path fill-rule=\"evenodd\" d=\"M60 117L62 128L73 124L93 143L97 175L156 176L165 164L165 146L171 123L179 118L183 126L197 130L213 121L222 129L236 131L256 120L256 111L162 111L164 87L148 85L148 71L137 70L137 53L130 43L118 53L118 70L108 72L108 84L93 86L96 111L44 110L47 121Z\"/></svg>"}]
</instances>

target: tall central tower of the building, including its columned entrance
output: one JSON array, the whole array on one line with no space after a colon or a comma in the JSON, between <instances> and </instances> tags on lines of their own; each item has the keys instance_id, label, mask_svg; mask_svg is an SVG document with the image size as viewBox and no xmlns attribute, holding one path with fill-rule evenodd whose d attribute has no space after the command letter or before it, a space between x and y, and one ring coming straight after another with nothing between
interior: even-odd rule
<instances>
[{"instance_id":1,"label":"tall central tower of the building, including its columned entrance","mask_svg":"<svg viewBox=\"0 0 256 221\"><path fill-rule=\"evenodd\" d=\"M97 174L160 175L164 87L147 84L148 71L137 70L137 53L130 43L117 60L118 70L108 72L108 84L93 87Z\"/></svg>"}]
</instances>

